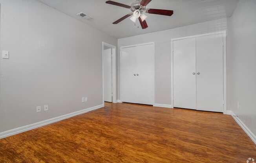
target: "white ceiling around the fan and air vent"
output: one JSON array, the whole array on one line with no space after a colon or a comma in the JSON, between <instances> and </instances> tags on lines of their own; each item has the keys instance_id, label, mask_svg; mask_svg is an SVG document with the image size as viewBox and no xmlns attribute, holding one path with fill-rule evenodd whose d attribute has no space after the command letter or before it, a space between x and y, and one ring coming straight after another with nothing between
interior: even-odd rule
<instances>
[{"instance_id":1,"label":"white ceiling around the fan and air vent","mask_svg":"<svg viewBox=\"0 0 256 163\"><path fill-rule=\"evenodd\" d=\"M191 25L232 16L238 0L152 0L147 8L174 10L172 16L147 14L147 29L141 29L127 18L114 25L112 22L130 13L130 9L106 4L106 0L39 0L62 13L77 18L92 27L110 34L115 38L124 38L138 34L163 31L184 25ZM130 5L134 0L113 0ZM84 12L93 17L85 20L77 16ZM137 26L139 25L139 28Z\"/></svg>"}]
</instances>

